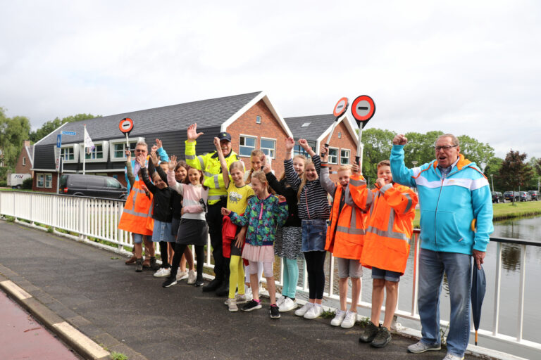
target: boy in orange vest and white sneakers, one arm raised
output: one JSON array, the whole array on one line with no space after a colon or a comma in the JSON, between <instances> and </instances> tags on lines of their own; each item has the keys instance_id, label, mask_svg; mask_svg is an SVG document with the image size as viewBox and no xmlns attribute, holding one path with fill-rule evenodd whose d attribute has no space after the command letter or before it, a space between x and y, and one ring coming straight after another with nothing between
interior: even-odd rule
<instances>
[{"instance_id":1,"label":"boy in orange vest and white sneakers, one arm raised","mask_svg":"<svg viewBox=\"0 0 541 360\"><path fill-rule=\"evenodd\" d=\"M349 196L349 177L352 176L350 165L341 165L338 168L338 182L334 183L329 177L327 165L328 151L321 163L321 186L334 201L330 212L330 226L327 230L325 250L332 252L338 262L338 276L340 278L340 310L330 325L352 328L357 321L357 303L361 293L361 276L363 268L359 260L363 252L364 228L366 213L362 212L353 203ZM358 166L354 165L357 172ZM361 177L362 179L362 177ZM347 311L347 279L352 279L352 305Z\"/></svg>"}]
</instances>

